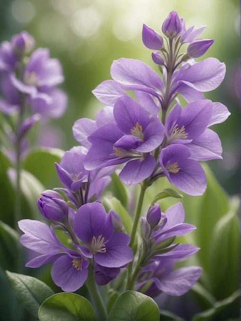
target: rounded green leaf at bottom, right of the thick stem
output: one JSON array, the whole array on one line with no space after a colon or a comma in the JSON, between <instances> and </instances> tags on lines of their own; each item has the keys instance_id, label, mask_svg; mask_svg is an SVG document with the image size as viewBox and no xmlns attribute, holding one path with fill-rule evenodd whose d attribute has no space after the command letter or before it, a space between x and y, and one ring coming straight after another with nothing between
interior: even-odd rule
<instances>
[{"instance_id":1,"label":"rounded green leaf at bottom, right of the thick stem","mask_svg":"<svg viewBox=\"0 0 241 321\"><path fill-rule=\"evenodd\" d=\"M150 296L126 291L116 300L107 320L159 321L159 308Z\"/></svg>"}]
</instances>

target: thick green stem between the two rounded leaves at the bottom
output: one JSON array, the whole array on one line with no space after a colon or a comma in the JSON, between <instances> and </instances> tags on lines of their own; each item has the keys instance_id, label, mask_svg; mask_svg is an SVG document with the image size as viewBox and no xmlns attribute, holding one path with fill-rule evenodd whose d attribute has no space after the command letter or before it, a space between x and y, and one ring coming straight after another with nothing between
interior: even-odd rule
<instances>
[{"instance_id":1,"label":"thick green stem between the two rounded leaves at the bottom","mask_svg":"<svg viewBox=\"0 0 241 321\"><path fill-rule=\"evenodd\" d=\"M107 312L104 307L103 300L100 295L100 291L95 281L95 273L91 263L89 266L88 277L87 277L87 280L85 281L85 285L94 303L97 320L99 321L107 320Z\"/></svg>"}]
</instances>

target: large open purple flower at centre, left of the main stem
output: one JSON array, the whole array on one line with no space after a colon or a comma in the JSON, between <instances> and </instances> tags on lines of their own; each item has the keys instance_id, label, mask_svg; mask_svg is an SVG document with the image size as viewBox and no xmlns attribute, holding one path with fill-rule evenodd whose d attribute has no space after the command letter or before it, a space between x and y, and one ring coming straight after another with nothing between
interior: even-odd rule
<instances>
[{"instance_id":1,"label":"large open purple flower at centre, left of the main stem","mask_svg":"<svg viewBox=\"0 0 241 321\"><path fill-rule=\"evenodd\" d=\"M119 177L125 184L141 182L150 176L156 160L150 154L160 146L164 127L131 97L123 96L114 107L116 124L105 124L92 132L92 144L84 166L88 170L128 162Z\"/></svg>"}]
</instances>

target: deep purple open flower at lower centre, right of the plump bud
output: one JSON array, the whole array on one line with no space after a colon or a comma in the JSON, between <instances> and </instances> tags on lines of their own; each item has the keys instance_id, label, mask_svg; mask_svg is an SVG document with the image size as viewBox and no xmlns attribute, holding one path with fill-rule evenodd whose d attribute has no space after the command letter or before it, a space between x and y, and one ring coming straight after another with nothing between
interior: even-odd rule
<instances>
[{"instance_id":1,"label":"deep purple open flower at lower centre, right of the plump bud","mask_svg":"<svg viewBox=\"0 0 241 321\"><path fill-rule=\"evenodd\" d=\"M114 231L113 218L102 204L88 203L79 208L73 219L76 235L84 246L78 246L86 257L105 268L120 268L133 259L128 247L130 237Z\"/></svg>"}]
</instances>

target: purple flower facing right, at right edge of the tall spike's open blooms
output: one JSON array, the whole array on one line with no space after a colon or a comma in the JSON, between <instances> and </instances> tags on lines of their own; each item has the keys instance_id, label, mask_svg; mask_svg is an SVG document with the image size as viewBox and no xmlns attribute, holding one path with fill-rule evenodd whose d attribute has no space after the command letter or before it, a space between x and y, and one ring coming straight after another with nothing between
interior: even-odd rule
<instances>
[{"instance_id":1,"label":"purple flower facing right, at right edge of the tall spike's open blooms","mask_svg":"<svg viewBox=\"0 0 241 321\"><path fill-rule=\"evenodd\" d=\"M184 108L178 104L174 106L165 122L166 145L185 144L195 160L221 158L220 139L207 127L213 116L228 117L230 113L224 105L219 109L216 104L204 99Z\"/></svg>"}]
</instances>

